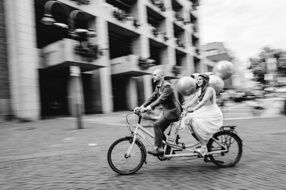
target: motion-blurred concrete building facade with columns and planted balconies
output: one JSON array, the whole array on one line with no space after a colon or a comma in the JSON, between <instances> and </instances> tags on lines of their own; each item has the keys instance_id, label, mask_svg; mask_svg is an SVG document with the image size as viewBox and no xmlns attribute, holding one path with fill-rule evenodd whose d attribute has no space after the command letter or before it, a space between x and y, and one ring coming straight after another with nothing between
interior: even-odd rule
<instances>
[{"instance_id":1,"label":"motion-blurred concrete building facade with columns and planted balconies","mask_svg":"<svg viewBox=\"0 0 286 190\"><path fill-rule=\"evenodd\" d=\"M155 69L174 86L207 72L198 0L1 2L2 120L131 110L153 92Z\"/></svg>"}]
</instances>

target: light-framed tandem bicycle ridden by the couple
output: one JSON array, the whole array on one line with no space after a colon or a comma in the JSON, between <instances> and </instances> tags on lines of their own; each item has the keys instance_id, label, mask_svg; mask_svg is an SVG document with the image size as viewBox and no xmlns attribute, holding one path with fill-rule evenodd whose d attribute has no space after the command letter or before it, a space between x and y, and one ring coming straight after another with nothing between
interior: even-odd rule
<instances>
[{"instance_id":1,"label":"light-framed tandem bicycle ridden by the couple","mask_svg":"<svg viewBox=\"0 0 286 190\"><path fill-rule=\"evenodd\" d=\"M136 125L129 122L131 115L138 116ZM146 162L146 148L140 141L144 140L150 147L154 149L154 134L140 125L140 112L129 112L126 116L127 127L131 134L124 138L116 140L111 144L107 153L108 164L111 169L122 175L134 174ZM213 162L219 167L232 167L240 161L243 152L243 144L241 138L235 131L236 126L223 126L220 130L213 134L207 143L208 153L205 156L194 151L200 146L200 143L184 144L179 142L179 129L174 127L174 122L170 124L169 131L166 134L164 144L164 155L157 156L159 160L171 160L175 157L189 157L189 159L201 158L205 162ZM174 137L171 136L172 128L175 128ZM171 150L167 150L167 147Z\"/></svg>"}]
</instances>

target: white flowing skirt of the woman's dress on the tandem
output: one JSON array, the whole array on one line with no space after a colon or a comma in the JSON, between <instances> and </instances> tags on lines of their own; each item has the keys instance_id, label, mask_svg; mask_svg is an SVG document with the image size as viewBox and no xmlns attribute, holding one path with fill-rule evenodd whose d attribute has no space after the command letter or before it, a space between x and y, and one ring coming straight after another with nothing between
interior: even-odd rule
<instances>
[{"instance_id":1,"label":"white flowing skirt of the woman's dress on the tandem","mask_svg":"<svg viewBox=\"0 0 286 190\"><path fill-rule=\"evenodd\" d=\"M185 124L207 141L223 126L223 113L217 104L204 105L185 117Z\"/></svg>"}]
</instances>

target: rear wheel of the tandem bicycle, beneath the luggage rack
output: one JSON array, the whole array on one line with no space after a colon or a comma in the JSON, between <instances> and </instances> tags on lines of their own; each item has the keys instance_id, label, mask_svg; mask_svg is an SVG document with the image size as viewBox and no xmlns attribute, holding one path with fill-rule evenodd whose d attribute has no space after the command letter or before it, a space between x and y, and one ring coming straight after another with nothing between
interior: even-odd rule
<instances>
[{"instance_id":1,"label":"rear wheel of the tandem bicycle, beneath the luggage rack","mask_svg":"<svg viewBox=\"0 0 286 190\"><path fill-rule=\"evenodd\" d=\"M217 132L213 135L213 138L219 141L221 144L227 147L227 152L221 152L218 154L210 154L209 158L213 164L219 167L232 167L240 161L242 157L242 141L234 133L229 131ZM213 139L210 139L208 144L208 152L225 150L224 147L219 145Z\"/></svg>"}]
</instances>

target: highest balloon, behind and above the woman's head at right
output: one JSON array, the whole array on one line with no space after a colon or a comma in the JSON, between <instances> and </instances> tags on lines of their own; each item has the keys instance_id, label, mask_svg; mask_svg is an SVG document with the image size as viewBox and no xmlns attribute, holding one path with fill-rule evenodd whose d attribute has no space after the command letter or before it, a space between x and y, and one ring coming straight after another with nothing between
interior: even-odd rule
<instances>
[{"instance_id":1,"label":"highest balloon, behind and above the woman's head at right","mask_svg":"<svg viewBox=\"0 0 286 190\"><path fill-rule=\"evenodd\" d=\"M225 80L228 79L234 72L234 65L229 61L220 61L214 65L212 72Z\"/></svg>"}]
</instances>

